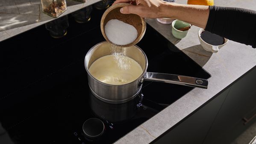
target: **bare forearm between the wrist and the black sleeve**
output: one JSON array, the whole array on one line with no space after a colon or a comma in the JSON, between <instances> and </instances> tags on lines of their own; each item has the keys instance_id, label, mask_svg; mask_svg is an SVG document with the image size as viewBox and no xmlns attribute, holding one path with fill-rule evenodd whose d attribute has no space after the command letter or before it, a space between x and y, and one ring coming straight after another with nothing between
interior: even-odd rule
<instances>
[{"instance_id":1,"label":"bare forearm between the wrist and the black sleeve","mask_svg":"<svg viewBox=\"0 0 256 144\"><path fill-rule=\"evenodd\" d=\"M174 18L205 28L209 17L209 6L164 3L161 6L162 18Z\"/></svg>"}]
</instances>

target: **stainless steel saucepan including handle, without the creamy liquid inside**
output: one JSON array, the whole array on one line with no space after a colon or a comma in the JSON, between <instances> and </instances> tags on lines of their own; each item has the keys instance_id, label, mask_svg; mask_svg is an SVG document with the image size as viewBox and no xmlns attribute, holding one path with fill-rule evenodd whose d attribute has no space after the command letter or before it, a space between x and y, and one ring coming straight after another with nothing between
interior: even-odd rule
<instances>
[{"instance_id":1,"label":"stainless steel saucepan including handle, without the creamy liquid inside","mask_svg":"<svg viewBox=\"0 0 256 144\"><path fill-rule=\"evenodd\" d=\"M136 97L141 91L144 81L166 82L198 88L207 88L208 80L189 76L166 73L147 72L147 56L136 45L122 48L126 56L134 59L143 69L143 73L133 82L124 85L110 85L95 79L89 72L91 64L100 57L111 54L111 44L103 41L92 47L85 56L85 69L88 73L88 83L92 93L98 99L107 103L125 103Z\"/></svg>"}]
</instances>

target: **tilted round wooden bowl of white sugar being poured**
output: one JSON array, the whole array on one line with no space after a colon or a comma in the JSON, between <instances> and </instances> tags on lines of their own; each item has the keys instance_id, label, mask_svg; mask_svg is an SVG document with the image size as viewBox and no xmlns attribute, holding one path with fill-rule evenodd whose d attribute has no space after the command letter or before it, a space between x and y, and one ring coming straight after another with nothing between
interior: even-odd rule
<instances>
[{"instance_id":1,"label":"tilted round wooden bowl of white sugar being poured","mask_svg":"<svg viewBox=\"0 0 256 144\"><path fill-rule=\"evenodd\" d=\"M135 14L122 14L120 9L129 3L118 3L110 6L103 14L100 29L104 38L120 47L137 44L144 36L146 22Z\"/></svg>"}]
</instances>

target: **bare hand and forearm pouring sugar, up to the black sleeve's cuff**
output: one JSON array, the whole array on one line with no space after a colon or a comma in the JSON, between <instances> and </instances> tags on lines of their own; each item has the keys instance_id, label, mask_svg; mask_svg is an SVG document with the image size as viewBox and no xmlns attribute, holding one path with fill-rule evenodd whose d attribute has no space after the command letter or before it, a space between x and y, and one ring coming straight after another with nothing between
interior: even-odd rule
<instances>
[{"instance_id":1,"label":"bare hand and forearm pouring sugar, up to the black sleeve's cuff","mask_svg":"<svg viewBox=\"0 0 256 144\"><path fill-rule=\"evenodd\" d=\"M209 17L209 6L184 5L163 0L116 0L117 3L135 2L135 6L124 6L123 14L136 14L142 18L173 18L205 28Z\"/></svg>"}]
</instances>

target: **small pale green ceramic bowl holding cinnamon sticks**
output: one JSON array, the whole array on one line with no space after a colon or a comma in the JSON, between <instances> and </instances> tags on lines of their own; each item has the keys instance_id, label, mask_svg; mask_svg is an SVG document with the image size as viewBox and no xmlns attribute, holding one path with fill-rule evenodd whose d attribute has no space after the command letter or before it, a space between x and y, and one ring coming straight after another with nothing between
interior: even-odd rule
<instances>
[{"instance_id":1,"label":"small pale green ceramic bowl holding cinnamon sticks","mask_svg":"<svg viewBox=\"0 0 256 144\"><path fill-rule=\"evenodd\" d=\"M171 26L172 26L171 32L174 35L174 37L182 39L182 38L185 38L185 36L188 34L189 29L186 30L186 31L181 31L181 30L178 30L178 29L183 28L183 27L191 26L191 24L188 24L184 21L175 20L175 21L172 22Z\"/></svg>"}]
</instances>

